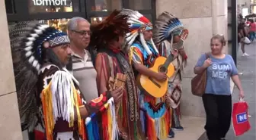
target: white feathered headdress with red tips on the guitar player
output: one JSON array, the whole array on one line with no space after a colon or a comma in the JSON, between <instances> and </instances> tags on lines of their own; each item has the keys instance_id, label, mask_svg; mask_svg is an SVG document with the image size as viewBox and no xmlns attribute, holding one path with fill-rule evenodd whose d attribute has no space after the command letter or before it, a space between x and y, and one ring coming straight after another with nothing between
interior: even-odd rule
<instances>
[{"instance_id":1,"label":"white feathered headdress with red tips on the guitar player","mask_svg":"<svg viewBox=\"0 0 256 140\"><path fill-rule=\"evenodd\" d=\"M130 9L123 9L120 12L120 15L128 16L127 23L130 25L130 33L126 33L127 47L130 48L130 46L133 45L133 42L135 42L136 37L139 36L140 41L147 53L152 54L152 51L150 51L149 46L146 45L146 41L142 34L146 30L153 29L152 23L149 21L149 19L140 14L139 11L133 11ZM155 47L152 39L150 40L150 43L152 44L155 51L158 52L158 49Z\"/></svg>"}]
</instances>

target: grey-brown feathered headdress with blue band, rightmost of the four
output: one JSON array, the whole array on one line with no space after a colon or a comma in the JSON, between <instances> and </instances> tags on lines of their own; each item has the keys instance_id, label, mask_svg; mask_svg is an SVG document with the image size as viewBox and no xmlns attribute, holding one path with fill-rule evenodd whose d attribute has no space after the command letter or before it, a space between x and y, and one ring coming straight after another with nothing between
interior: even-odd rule
<instances>
[{"instance_id":1,"label":"grey-brown feathered headdress with blue band, rightmost of the four","mask_svg":"<svg viewBox=\"0 0 256 140\"><path fill-rule=\"evenodd\" d=\"M158 44L166 39L171 39L171 36L181 36L184 32L186 36L181 38L183 41L187 38L188 30L184 29L183 24L177 17L165 11L155 21L153 40L155 44Z\"/></svg>"}]
</instances>

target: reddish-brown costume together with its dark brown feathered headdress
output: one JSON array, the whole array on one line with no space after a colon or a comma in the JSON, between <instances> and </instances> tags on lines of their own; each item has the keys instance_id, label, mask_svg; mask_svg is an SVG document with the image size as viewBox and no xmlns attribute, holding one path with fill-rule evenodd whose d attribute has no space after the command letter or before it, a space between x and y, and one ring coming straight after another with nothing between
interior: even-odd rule
<instances>
[{"instance_id":1,"label":"reddish-brown costume together with its dark brown feathered headdress","mask_svg":"<svg viewBox=\"0 0 256 140\"><path fill-rule=\"evenodd\" d=\"M121 42L120 38L129 32L126 16L119 14L120 11L114 11L102 23L91 26L91 45L96 46L98 51L95 59L98 91L113 90L115 81L124 82L123 98L116 104L120 139L140 140L142 138L139 131L139 109L133 69L125 52L111 44L115 41Z\"/></svg>"}]
</instances>

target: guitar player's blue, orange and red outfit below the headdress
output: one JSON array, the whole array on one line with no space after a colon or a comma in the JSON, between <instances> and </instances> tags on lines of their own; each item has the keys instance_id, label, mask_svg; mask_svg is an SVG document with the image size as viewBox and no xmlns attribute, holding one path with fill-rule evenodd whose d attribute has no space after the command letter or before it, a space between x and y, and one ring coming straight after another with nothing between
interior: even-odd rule
<instances>
[{"instance_id":1,"label":"guitar player's blue, orange and red outfit below the headdress","mask_svg":"<svg viewBox=\"0 0 256 140\"><path fill-rule=\"evenodd\" d=\"M152 55L149 55L140 42L135 42L130 48L130 61L132 63L143 64L149 67L159 54L149 45ZM136 70L135 70L136 71ZM162 98L152 98L143 91L139 91L140 120L142 131L149 140L165 139L171 124L171 110L166 107L165 96Z\"/></svg>"}]
</instances>

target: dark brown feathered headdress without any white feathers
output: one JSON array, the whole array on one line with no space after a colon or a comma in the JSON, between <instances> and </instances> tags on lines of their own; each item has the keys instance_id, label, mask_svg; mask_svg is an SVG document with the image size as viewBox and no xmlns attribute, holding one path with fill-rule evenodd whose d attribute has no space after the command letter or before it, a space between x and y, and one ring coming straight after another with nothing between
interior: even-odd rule
<instances>
[{"instance_id":1,"label":"dark brown feathered headdress without any white feathers","mask_svg":"<svg viewBox=\"0 0 256 140\"><path fill-rule=\"evenodd\" d=\"M107 42L129 32L127 16L120 15L120 11L115 10L101 23L91 25L91 31L91 46L103 47Z\"/></svg>"}]
</instances>

